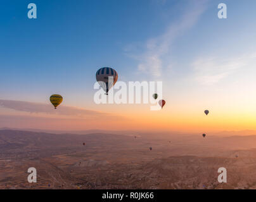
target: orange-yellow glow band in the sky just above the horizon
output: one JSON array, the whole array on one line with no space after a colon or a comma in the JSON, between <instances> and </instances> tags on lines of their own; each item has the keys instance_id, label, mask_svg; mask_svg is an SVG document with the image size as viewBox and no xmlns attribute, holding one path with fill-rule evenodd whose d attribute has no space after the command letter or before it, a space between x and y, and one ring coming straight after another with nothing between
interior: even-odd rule
<instances>
[{"instance_id":1,"label":"orange-yellow glow band in the sky just above the horizon","mask_svg":"<svg viewBox=\"0 0 256 202\"><path fill-rule=\"evenodd\" d=\"M181 111L163 107L159 111L151 111L149 105L134 110L127 107L122 113L113 113L116 118L60 116L55 114L35 114L29 112L1 113L1 127L37 128L54 130L139 130L139 131L181 131L212 132L241 131L256 129L256 115L241 112L215 112L210 110L208 116L200 111ZM143 111L143 112L141 112ZM4 118L4 117L9 118ZM120 116L120 117L119 117Z\"/></svg>"}]
</instances>

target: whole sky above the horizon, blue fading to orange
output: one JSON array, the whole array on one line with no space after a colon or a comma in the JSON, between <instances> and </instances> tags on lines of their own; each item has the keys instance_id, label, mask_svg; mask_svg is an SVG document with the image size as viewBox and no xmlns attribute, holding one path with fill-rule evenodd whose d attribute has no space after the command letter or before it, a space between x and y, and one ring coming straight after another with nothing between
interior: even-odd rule
<instances>
[{"instance_id":1,"label":"whole sky above the horizon, blue fading to orange","mask_svg":"<svg viewBox=\"0 0 256 202\"><path fill-rule=\"evenodd\" d=\"M28 18L29 3L37 19ZM219 3L227 19L218 18ZM254 0L3 0L0 127L256 130L255 7ZM95 73L105 66L125 83L162 81L163 109L96 104ZM54 93L63 96L57 110Z\"/></svg>"}]
</instances>

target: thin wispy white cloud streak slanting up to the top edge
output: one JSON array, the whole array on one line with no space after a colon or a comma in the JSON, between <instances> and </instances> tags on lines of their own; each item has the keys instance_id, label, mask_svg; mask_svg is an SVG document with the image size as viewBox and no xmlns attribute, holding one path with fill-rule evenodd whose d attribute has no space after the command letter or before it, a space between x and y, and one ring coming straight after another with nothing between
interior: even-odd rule
<instances>
[{"instance_id":1,"label":"thin wispy white cloud streak slanting up to the top edge","mask_svg":"<svg viewBox=\"0 0 256 202\"><path fill-rule=\"evenodd\" d=\"M195 25L205 11L206 3L207 0L189 1L189 5L184 9L180 19L172 22L165 33L148 39L145 44L146 50L136 56L136 59L139 60L138 70L150 73L152 76L161 76L163 66L170 66L170 61L165 61L165 56L169 55L172 43Z\"/></svg>"}]
</instances>

